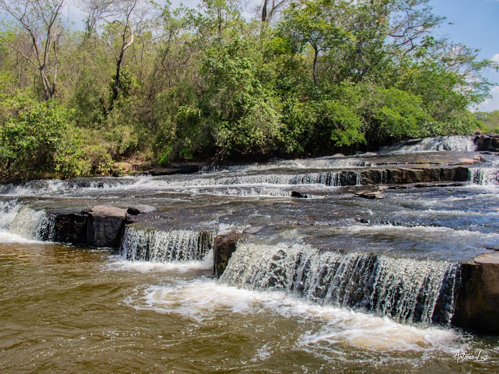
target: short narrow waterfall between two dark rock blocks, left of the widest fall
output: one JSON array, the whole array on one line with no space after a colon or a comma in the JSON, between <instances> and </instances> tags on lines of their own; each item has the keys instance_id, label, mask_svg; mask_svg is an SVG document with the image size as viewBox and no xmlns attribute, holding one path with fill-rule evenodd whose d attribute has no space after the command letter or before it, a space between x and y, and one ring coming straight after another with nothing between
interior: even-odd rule
<instances>
[{"instance_id":1,"label":"short narrow waterfall between two dark rock blocks, left of the widest fall","mask_svg":"<svg viewBox=\"0 0 499 374\"><path fill-rule=\"evenodd\" d=\"M213 233L193 230L148 230L127 227L120 253L130 261L203 260L211 250Z\"/></svg>"}]
</instances>

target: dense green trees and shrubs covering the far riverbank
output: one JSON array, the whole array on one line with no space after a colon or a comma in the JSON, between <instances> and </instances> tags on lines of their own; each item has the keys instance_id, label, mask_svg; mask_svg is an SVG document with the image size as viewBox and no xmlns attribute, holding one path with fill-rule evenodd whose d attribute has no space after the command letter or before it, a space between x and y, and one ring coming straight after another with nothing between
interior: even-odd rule
<instances>
[{"instance_id":1,"label":"dense green trees and shrubs covering the far riverbank","mask_svg":"<svg viewBox=\"0 0 499 374\"><path fill-rule=\"evenodd\" d=\"M0 0L2 179L471 134L497 69L428 0L85 0L84 30L64 2Z\"/></svg>"}]
</instances>

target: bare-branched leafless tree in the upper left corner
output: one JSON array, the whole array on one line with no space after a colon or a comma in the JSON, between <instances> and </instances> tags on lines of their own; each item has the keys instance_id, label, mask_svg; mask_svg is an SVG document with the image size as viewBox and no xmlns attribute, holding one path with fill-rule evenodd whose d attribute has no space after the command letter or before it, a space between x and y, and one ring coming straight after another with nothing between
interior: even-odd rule
<instances>
[{"instance_id":1,"label":"bare-branched leafless tree in the upper left corner","mask_svg":"<svg viewBox=\"0 0 499 374\"><path fill-rule=\"evenodd\" d=\"M22 35L0 39L28 61L39 73L45 100L56 93L60 42L64 32L61 11L65 0L0 0L4 19L11 20L12 28ZM27 39L24 43L23 39Z\"/></svg>"}]
</instances>

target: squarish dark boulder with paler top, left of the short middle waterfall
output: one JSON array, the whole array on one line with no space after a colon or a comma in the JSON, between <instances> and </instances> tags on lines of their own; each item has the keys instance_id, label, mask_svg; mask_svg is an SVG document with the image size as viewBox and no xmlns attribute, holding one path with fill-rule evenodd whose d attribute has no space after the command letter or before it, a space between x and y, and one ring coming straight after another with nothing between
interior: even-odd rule
<instances>
[{"instance_id":1,"label":"squarish dark boulder with paler top, left of the short middle waterfall","mask_svg":"<svg viewBox=\"0 0 499 374\"><path fill-rule=\"evenodd\" d=\"M91 247L118 247L125 226L126 210L97 205L88 212L87 244Z\"/></svg>"}]
</instances>

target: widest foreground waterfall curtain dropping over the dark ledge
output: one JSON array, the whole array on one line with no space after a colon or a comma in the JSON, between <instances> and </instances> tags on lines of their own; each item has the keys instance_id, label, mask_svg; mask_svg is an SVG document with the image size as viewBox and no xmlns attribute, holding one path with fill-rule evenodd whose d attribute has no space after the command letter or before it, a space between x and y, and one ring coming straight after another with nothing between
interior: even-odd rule
<instances>
[{"instance_id":1,"label":"widest foreground waterfall curtain dropping over the dark ledge","mask_svg":"<svg viewBox=\"0 0 499 374\"><path fill-rule=\"evenodd\" d=\"M320 305L372 311L398 322L449 325L456 263L343 254L293 244L242 243L219 282L284 291Z\"/></svg>"}]
</instances>

